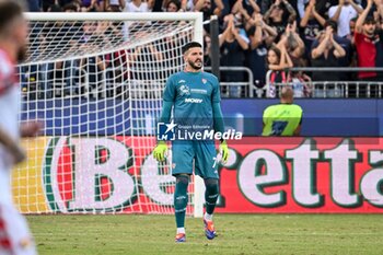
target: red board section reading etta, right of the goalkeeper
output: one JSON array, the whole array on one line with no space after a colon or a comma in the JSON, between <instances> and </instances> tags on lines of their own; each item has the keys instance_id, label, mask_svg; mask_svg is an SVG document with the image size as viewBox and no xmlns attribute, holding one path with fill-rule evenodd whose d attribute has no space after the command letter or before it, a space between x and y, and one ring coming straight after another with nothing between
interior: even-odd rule
<instances>
[{"instance_id":1,"label":"red board section reading etta, right of the goalkeeper","mask_svg":"<svg viewBox=\"0 0 383 255\"><path fill-rule=\"evenodd\" d=\"M219 212L383 212L383 139L244 138L220 172Z\"/></svg>"}]
</instances>

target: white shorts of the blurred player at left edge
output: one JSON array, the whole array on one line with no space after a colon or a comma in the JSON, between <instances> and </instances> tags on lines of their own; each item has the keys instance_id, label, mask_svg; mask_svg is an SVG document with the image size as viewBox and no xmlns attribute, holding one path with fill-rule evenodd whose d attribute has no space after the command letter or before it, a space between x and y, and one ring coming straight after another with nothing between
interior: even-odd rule
<instances>
[{"instance_id":1,"label":"white shorts of the blurred player at left edge","mask_svg":"<svg viewBox=\"0 0 383 255\"><path fill-rule=\"evenodd\" d=\"M10 171L0 169L0 255L35 255L25 218L12 202Z\"/></svg>"}]
</instances>

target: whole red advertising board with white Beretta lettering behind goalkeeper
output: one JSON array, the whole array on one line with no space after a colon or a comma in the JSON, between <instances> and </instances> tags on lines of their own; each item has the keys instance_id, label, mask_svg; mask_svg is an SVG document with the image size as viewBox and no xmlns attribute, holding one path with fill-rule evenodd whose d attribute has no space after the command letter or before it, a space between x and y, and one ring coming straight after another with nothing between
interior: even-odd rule
<instances>
[{"instance_id":1,"label":"whole red advertising board with white Beretta lettering behind goalkeeper","mask_svg":"<svg viewBox=\"0 0 383 255\"><path fill-rule=\"evenodd\" d=\"M158 167L150 144L51 138L43 173L49 208L172 213L174 177ZM382 138L247 137L229 147L217 212L383 212Z\"/></svg>"}]
</instances>

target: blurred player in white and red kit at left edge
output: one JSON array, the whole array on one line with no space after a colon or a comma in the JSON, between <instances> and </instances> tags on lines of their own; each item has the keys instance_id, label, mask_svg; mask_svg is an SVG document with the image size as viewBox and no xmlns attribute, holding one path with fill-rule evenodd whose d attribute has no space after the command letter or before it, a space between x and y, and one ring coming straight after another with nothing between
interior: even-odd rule
<instances>
[{"instance_id":1,"label":"blurred player in white and red kit at left edge","mask_svg":"<svg viewBox=\"0 0 383 255\"><path fill-rule=\"evenodd\" d=\"M0 0L0 255L32 255L36 248L24 217L12 201L10 176L25 159L21 136L34 136L38 123L19 125L20 86L15 63L26 53L27 23L15 0Z\"/></svg>"}]
</instances>

